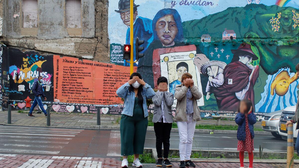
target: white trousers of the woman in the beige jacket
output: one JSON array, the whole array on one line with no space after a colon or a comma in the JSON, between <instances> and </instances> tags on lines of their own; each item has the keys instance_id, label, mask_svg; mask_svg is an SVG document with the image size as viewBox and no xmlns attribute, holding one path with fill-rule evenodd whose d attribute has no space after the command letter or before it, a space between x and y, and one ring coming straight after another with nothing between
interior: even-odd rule
<instances>
[{"instance_id":1,"label":"white trousers of the woman in the beige jacket","mask_svg":"<svg viewBox=\"0 0 299 168\"><path fill-rule=\"evenodd\" d=\"M190 160L191 150L192 150L192 141L196 126L196 121L193 120L193 114L186 114L187 122L177 121L179 135L180 135L180 158L181 161Z\"/></svg>"}]
</instances>

